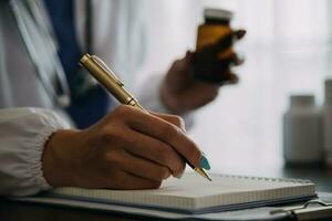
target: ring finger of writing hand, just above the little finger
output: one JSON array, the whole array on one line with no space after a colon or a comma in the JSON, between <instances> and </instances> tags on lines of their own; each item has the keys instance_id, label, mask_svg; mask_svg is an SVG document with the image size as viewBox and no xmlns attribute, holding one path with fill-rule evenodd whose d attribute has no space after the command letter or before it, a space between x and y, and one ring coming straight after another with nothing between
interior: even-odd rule
<instances>
[{"instance_id":1,"label":"ring finger of writing hand, just above the little finger","mask_svg":"<svg viewBox=\"0 0 332 221\"><path fill-rule=\"evenodd\" d=\"M118 165L121 170L142 178L162 181L170 176L170 171L167 167L132 155L126 150L118 151L115 156L113 152L113 155L108 156L108 160L110 165Z\"/></svg>"}]
</instances>

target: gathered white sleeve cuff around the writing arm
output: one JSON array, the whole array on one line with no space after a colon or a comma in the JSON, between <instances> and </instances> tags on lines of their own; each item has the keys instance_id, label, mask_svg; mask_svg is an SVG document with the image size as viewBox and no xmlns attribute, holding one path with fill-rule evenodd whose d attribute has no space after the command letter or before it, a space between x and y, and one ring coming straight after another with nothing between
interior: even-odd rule
<instances>
[{"instance_id":1,"label":"gathered white sleeve cuff around the writing arm","mask_svg":"<svg viewBox=\"0 0 332 221\"><path fill-rule=\"evenodd\" d=\"M50 189L42 171L43 148L54 131L69 127L52 110L0 109L0 196L29 196Z\"/></svg>"}]
</instances>

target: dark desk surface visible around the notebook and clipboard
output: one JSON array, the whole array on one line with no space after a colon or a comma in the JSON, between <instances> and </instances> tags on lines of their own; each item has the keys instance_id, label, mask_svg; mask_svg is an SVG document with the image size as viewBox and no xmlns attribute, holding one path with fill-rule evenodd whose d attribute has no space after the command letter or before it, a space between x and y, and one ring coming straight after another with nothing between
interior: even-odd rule
<instances>
[{"instance_id":1,"label":"dark desk surface visible around the notebook and clipboard","mask_svg":"<svg viewBox=\"0 0 332 221\"><path fill-rule=\"evenodd\" d=\"M280 168L270 170L270 177L289 177L299 179L311 179L318 185L318 191L332 192L332 170L325 168ZM48 221L128 221L146 220L143 218L123 217L116 213L92 212L80 209L68 209L61 207L49 207L32 203L11 202L0 200L0 218L7 221L20 220L48 220ZM4 219L2 219L4 218Z\"/></svg>"}]
</instances>

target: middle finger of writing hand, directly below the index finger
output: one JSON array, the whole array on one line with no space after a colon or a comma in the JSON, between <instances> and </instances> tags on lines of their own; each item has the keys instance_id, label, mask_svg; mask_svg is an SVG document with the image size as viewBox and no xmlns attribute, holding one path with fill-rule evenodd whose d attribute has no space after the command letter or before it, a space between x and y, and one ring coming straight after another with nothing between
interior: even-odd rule
<instances>
[{"instance_id":1,"label":"middle finger of writing hand, directly below the index finger","mask_svg":"<svg viewBox=\"0 0 332 221\"><path fill-rule=\"evenodd\" d=\"M183 157L168 144L133 130L126 134L129 137L123 141L126 151L168 168L175 177L185 170Z\"/></svg>"}]
</instances>

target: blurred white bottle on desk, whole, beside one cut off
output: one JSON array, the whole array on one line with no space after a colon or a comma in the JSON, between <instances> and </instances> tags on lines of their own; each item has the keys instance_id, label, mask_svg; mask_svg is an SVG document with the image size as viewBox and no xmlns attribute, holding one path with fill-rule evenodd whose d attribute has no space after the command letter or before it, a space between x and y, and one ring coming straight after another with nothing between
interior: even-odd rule
<instances>
[{"instance_id":1,"label":"blurred white bottle on desk, whole, beside one cut off","mask_svg":"<svg viewBox=\"0 0 332 221\"><path fill-rule=\"evenodd\" d=\"M287 166L322 165L323 113L313 95L290 96L283 115L283 155Z\"/></svg>"}]
</instances>

